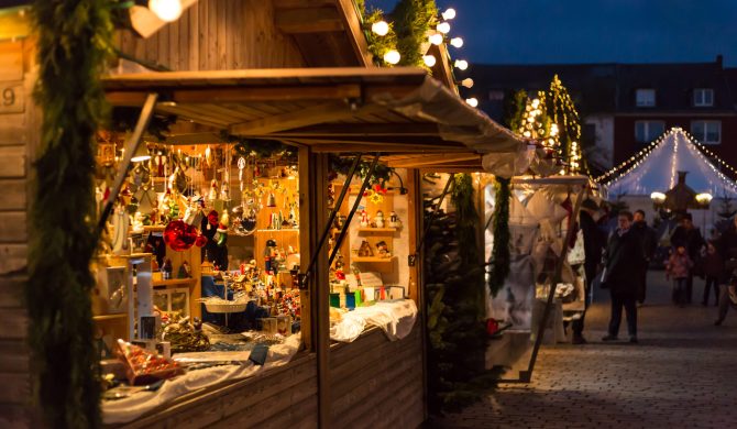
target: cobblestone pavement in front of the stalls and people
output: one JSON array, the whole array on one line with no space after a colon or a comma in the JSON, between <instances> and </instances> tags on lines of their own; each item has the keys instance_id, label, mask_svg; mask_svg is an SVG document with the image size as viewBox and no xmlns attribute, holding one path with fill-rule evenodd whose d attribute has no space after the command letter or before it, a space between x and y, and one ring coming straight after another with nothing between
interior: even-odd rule
<instances>
[{"instance_id":1,"label":"cobblestone pavement in front of the stalls and people","mask_svg":"<svg viewBox=\"0 0 737 429\"><path fill-rule=\"evenodd\" d=\"M585 345L541 349L530 384L503 384L440 428L737 428L737 312L715 327L716 308L670 304L663 272L649 273L639 344L603 343L606 292L586 318ZM623 321L620 338L626 337Z\"/></svg>"}]
</instances>

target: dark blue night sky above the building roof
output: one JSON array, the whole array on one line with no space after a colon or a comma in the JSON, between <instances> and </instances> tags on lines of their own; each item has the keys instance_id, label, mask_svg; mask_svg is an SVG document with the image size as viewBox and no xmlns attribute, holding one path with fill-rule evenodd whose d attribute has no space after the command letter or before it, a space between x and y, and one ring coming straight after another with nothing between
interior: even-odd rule
<instances>
[{"instance_id":1,"label":"dark blue night sky above the building roof","mask_svg":"<svg viewBox=\"0 0 737 429\"><path fill-rule=\"evenodd\" d=\"M388 12L396 0L366 0ZM439 0L458 16L455 58L486 64L682 63L737 66L737 0Z\"/></svg>"}]
</instances>

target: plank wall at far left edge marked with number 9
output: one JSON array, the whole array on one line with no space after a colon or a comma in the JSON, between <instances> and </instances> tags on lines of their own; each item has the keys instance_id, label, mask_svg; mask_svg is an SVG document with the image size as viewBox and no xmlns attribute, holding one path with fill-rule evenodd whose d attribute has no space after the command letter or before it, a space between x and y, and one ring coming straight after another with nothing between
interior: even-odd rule
<instances>
[{"instance_id":1,"label":"plank wall at far left edge marked with number 9","mask_svg":"<svg viewBox=\"0 0 737 429\"><path fill-rule=\"evenodd\" d=\"M26 213L31 160L40 114L31 42L0 42L0 427L33 427L26 345L28 314L21 294L28 279Z\"/></svg>"}]
</instances>

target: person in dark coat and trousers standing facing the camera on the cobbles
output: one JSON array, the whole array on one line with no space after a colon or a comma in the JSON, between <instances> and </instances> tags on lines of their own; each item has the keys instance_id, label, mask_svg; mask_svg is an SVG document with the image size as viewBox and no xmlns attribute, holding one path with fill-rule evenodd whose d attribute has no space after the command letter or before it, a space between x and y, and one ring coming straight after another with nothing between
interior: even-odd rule
<instances>
[{"instance_id":1,"label":"person in dark coat and trousers standing facing the camera on the cobbles","mask_svg":"<svg viewBox=\"0 0 737 429\"><path fill-rule=\"evenodd\" d=\"M629 342L637 342L637 295L640 292L639 273L645 264L642 244L637 233L630 228L632 213L620 211L617 216L617 230L612 233L606 245L603 284L612 295L612 317L609 333L604 341L618 339L622 323L622 308L627 312L627 330Z\"/></svg>"}]
</instances>

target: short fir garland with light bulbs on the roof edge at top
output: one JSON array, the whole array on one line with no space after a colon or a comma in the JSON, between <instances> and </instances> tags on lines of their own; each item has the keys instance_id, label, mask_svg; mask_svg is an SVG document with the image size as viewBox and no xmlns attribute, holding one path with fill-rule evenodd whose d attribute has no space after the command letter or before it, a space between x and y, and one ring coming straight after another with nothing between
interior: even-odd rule
<instances>
[{"instance_id":1,"label":"short fir garland with light bulbs on the roof edge at top","mask_svg":"<svg viewBox=\"0 0 737 429\"><path fill-rule=\"evenodd\" d=\"M435 0L399 0L394 10L394 31L397 37L397 51L402 54L400 66L427 68L422 61L421 46L427 32L438 21L438 7Z\"/></svg>"}]
</instances>

